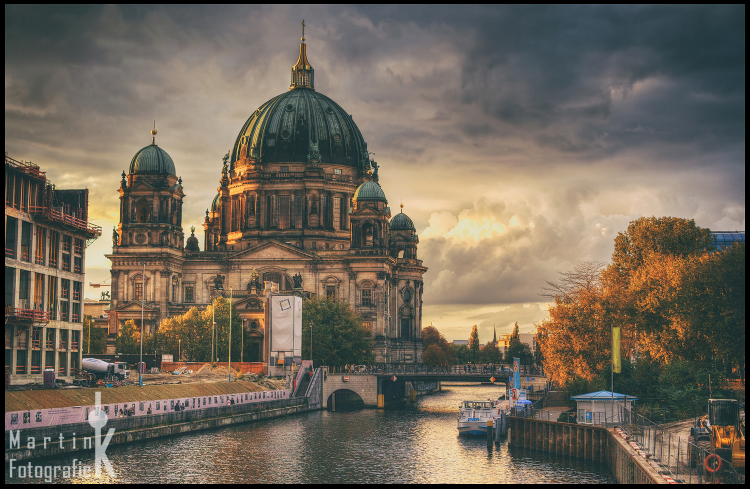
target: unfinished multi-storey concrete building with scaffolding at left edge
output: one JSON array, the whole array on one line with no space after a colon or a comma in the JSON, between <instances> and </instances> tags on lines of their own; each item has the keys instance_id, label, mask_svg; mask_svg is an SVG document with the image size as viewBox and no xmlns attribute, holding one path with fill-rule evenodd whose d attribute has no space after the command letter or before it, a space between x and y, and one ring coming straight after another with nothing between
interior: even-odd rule
<instances>
[{"instance_id":1,"label":"unfinished multi-storey concrete building with scaffolding at left edge","mask_svg":"<svg viewBox=\"0 0 750 489\"><path fill-rule=\"evenodd\" d=\"M83 344L89 190L60 190L33 163L5 156L5 369L11 384L54 368L72 381Z\"/></svg>"}]
</instances>

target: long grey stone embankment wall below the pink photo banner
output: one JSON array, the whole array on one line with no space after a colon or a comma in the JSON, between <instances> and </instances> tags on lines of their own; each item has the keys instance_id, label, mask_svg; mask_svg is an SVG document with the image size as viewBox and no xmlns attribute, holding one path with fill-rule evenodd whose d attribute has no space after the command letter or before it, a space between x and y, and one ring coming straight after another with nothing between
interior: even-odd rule
<instances>
[{"instance_id":1,"label":"long grey stone embankment wall below the pink photo banner","mask_svg":"<svg viewBox=\"0 0 750 489\"><path fill-rule=\"evenodd\" d=\"M278 418L310 410L308 398L279 399L255 404L211 407L148 416L108 419L104 436L115 429L110 446ZM5 431L5 463L55 455L93 453L95 429L86 423L51 428Z\"/></svg>"}]
</instances>

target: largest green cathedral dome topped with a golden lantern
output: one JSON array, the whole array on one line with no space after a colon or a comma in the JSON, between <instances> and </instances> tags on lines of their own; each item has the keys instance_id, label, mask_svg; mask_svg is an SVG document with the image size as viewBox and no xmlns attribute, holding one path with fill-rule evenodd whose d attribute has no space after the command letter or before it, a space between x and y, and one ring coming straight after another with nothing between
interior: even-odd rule
<instances>
[{"instance_id":1,"label":"largest green cathedral dome topped with a golden lantern","mask_svg":"<svg viewBox=\"0 0 750 489\"><path fill-rule=\"evenodd\" d=\"M310 162L364 169L367 143L352 116L315 91L305 43L300 44L300 60L293 67L290 91L261 105L242 126L231 163L250 158L262 163ZM296 71L298 80L307 77L305 83L295 83Z\"/></svg>"}]
</instances>

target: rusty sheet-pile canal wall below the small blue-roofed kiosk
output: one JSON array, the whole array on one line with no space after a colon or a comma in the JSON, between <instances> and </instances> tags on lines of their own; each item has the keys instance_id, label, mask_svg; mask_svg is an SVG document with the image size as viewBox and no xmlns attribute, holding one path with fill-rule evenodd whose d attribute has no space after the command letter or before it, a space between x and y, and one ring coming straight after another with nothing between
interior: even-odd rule
<instances>
[{"instance_id":1,"label":"rusty sheet-pile canal wall below the small blue-roofed kiosk","mask_svg":"<svg viewBox=\"0 0 750 489\"><path fill-rule=\"evenodd\" d=\"M648 461L612 428L508 418L508 446L605 462L618 484L667 484Z\"/></svg>"}]
</instances>

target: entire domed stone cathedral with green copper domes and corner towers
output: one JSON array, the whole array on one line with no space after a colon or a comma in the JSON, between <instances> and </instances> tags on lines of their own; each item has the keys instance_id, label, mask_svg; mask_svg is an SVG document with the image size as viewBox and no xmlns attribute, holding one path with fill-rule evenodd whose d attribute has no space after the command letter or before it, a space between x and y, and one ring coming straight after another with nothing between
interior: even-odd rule
<instances>
[{"instance_id":1,"label":"entire domed stone cathedral with green copper domes and corner towers","mask_svg":"<svg viewBox=\"0 0 750 489\"><path fill-rule=\"evenodd\" d=\"M181 178L155 143L120 182L113 229L110 338L126 320L153 332L166 317L231 297L264 362L263 290L346 301L374 338L377 362L422 362L422 275L412 220L392 216L377 163L353 116L314 87L305 37L290 89L260 106L217 172L203 250L184 240ZM277 285L272 285L277 284Z\"/></svg>"}]
</instances>

